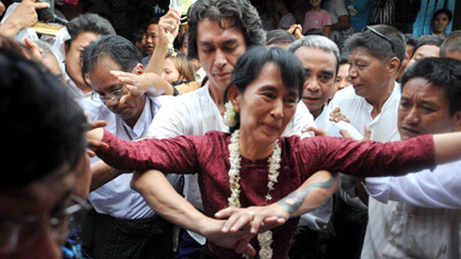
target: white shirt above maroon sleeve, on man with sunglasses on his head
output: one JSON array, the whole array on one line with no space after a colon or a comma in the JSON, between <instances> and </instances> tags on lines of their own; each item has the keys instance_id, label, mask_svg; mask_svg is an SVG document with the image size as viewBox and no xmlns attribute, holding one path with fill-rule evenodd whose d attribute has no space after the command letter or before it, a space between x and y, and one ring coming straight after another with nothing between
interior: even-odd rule
<instances>
[{"instance_id":1,"label":"white shirt above maroon sleeve, on man with sunglasses on his head","mask_svg":"<svg viewBox=\"0 0 461 259\"><path fill-rule=\"evenodd\" d=\"M330 107L332 109L340 107L341 113L351 120L351 125L359 133L364 134L363 127L369 125L372 130L372 140L387 142L400 140L397 128L399 104L400 85L395 83L390 97L381 107L381 113L374 118L372 118L373 106L365 98L357 96L352 86L336 92Z\"/></svg>"}]
</instances>

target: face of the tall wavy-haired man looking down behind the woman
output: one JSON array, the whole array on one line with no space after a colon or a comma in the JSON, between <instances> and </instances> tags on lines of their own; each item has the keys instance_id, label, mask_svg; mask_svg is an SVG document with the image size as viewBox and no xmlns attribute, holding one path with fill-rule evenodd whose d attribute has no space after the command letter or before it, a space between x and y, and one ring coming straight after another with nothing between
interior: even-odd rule
<instances>
[{"instance_id":1,"label":"face of the tall wavy-haired man looking down behind the woman","mask_svg":"<svg viewBox=\"0 0 461 259\"><path fill-rule=\"evenodd\" d=\"M211 88L224 90L230 81L234 65L246 51L243 33L230 27L232 21L208 18L197 24L197 52L202 68L210 79Z\"/></svg>"}]
</instances>

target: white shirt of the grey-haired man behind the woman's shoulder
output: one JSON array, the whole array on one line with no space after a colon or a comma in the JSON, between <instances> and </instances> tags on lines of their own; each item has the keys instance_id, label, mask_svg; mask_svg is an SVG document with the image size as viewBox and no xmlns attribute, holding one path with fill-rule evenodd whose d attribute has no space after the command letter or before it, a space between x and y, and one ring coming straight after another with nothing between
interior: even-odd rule
<instances>
[{"instance_id":1,"label":"white shirt of the grey-haired man behind the woman's shoulder","mask_svg":"<svg viewBox=\"0 0 461 259\"><path fill-rule=\"evenodd\" d=\"M347 131L353 138L362 139L362 134L360 134L353 125L350 125L346 122L340 121L334 123L330 121L330 113L332 109L328 106L324 106L322 113L315 118L315 125L321 130L324 130L327 134L332 136L342 137L339 133L341 130ZM348 178L353 178L353 176L345 176ZM342 176L343 180L343 176ZM324 205L315 210L303 214L299 219L299 226L307 226L311 229L322 230L330 221L330 217L333 212L333 199L328 199Z\"/></svg>"}]
</instances>

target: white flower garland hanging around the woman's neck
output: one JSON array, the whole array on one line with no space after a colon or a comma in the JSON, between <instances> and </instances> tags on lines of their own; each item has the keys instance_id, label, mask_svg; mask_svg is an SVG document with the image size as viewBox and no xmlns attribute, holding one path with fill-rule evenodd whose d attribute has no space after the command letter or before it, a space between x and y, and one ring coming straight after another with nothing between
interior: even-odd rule
<instances>
[{"instance_id":1,"label":"white flower garland hanging around the woman's neck","mask_svg":"<svg viewBox=\"0 0 461 259\"><path fill-rule=\"evenodd\" d=\"M230 102L226 104L226 114L228 112L228 104L230 104ZM225 120L226 114L224 114ZM230 136L229 153L229 184L231 193L228 201L230 207L240 208L240 130L236 130ZM278 182L278 170L280 169L281 154L282 151L278 146L277 140L274 147L274 151L272 152L272 155L268 158L268 194L266 194L266 196L264 197L266 200L272 199L272 196L270 196L269 192L271 190L274 190L274 185ZM272 231L268 230L264 233L259 234L258 242L260 246L259 258L271 259L272 248L270 247L270 245L272 244Z\"/></svg>"}]
</instances>

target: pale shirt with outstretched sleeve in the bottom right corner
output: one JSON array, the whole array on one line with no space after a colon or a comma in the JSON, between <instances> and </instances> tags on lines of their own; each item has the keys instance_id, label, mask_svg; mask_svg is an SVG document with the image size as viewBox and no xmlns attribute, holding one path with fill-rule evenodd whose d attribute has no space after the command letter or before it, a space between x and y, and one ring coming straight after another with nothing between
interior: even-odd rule
<instances>
[{"instance_id":1,"label":"pale shirt with outstretched sleeve in the bottom right corner","mask_svg":"<svg viewBox=\"0 0 461 259\"><path fill-rule=\"evenodd\" d=\"M400 177L367 178L366 190L391 213L382 217L385 239L364 250L362 258L461 258L459 182L461 161Z\"/></svg>"}]
</instances>

